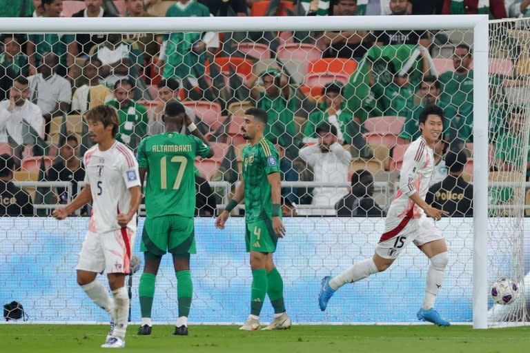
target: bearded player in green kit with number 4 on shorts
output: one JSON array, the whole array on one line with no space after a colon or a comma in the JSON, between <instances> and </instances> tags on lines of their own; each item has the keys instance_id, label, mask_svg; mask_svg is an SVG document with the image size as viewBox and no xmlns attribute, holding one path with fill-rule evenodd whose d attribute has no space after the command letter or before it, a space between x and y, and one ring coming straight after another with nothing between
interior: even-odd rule
<instances>
[{"instance_id":1,"label":"bearded player in green kit with number 4 on shorts","mask_svg":"<svg viewBox=\"0 0 530 353\"><path fill-rule=\"evenodd\" d=\"M251 314L239 330L259 329L259 312L265 295L274 307L274 319L264 330L291 327L284 304L284 283L275 268L273 253L278 238L285 234L280 212L279 156L271 141L263 137L267 113L259 108L246 110L241 126L249 144L243 149L243 180L233 199L215 220L215 227L224 229L230 211L245 199L246 251L251 253L252 290Z\"/></svg>"}]
</instances>

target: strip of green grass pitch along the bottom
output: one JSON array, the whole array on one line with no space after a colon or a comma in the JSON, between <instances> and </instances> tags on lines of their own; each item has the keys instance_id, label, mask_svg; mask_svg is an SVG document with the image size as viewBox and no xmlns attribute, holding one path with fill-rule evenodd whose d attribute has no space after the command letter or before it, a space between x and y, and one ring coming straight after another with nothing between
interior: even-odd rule
<instances>
[{"instance_id":1,"label":"strip of green grass pitch along the bottom","mask_svg":"<svg viewBox=\"0 0 530 353\"><path fill-rule=\"evenodd\" d=\"M337 353L529 352L530 327L473 330L469 325L294 325L291 330L242 332L237 326L190 325L190 336L155 325L137 336L130 325L126 352ZM0 325L1 352L101 352L106 325Z\"/></svg>"}]
</instances>

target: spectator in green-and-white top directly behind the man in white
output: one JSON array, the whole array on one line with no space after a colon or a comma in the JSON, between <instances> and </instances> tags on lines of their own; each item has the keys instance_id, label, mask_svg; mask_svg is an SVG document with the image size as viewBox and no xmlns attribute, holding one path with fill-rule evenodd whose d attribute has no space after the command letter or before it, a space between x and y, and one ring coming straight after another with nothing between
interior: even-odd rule
<instances>
[{"instance_id":1,"label":"spectator in green-and-white top directly behind the man in white","mask_svg":"<svg viewBox=\"0 0 530 353\"><path fill-rule=\"evenodd\" d=\"M353 113L346 108L342 96L342 83L336 81L327 83L322 88L324 101L318 105L318 110L309 114L304 126L304 143L317 143L317 126L322 123L331 123L337 128L337 141L340 144L354 145L357 150L366 146L362 137L362 128L353 117Z\"/></svg>"}]
</instances>

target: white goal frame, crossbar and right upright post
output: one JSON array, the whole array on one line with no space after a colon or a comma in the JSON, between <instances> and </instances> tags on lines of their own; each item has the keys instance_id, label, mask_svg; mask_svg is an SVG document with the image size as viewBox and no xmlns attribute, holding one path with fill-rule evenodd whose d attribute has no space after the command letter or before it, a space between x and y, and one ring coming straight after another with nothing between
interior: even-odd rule
<instances>
[{"instance_id":1,"label":"white goal frame, crossbar and right upright post","mask_svg":"<svg viewBox=\"0 0 530 353\"><path fill-rule=\"evenodd\" d=\"M413 18L413 19L411 19ZM246 30L473 30L473 327L487 328L488 313L488 17L164 17L164 18L6 18L0 33L232 32Z\"/></svg>"}]
</instances>

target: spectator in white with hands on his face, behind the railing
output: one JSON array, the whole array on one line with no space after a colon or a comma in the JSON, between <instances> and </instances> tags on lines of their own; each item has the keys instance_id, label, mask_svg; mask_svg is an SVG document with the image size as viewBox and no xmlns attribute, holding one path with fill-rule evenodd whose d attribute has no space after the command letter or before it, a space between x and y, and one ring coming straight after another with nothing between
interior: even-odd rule
<instances>
[{"instance_id":1,"label":"spectator in white with hands on his face, behind the railing","mask_svg":"<svg viewBox=\"0 0 530 353\"><path fill-rule=\"evenodd\" d=\"M304 147L300 150L300 158L311 165L314 181L321 183L347 183L348 167L351 154L337 143L337 128L330 123L322 123L316 129L317 145ZM335 186L317 187L313 189L312 205L324 206L322 210L314 210L316 214L334 215L334 205L346 194L346 188ZM315 214L312 212L312 214Z\"/></svg>"}]
</instances>

